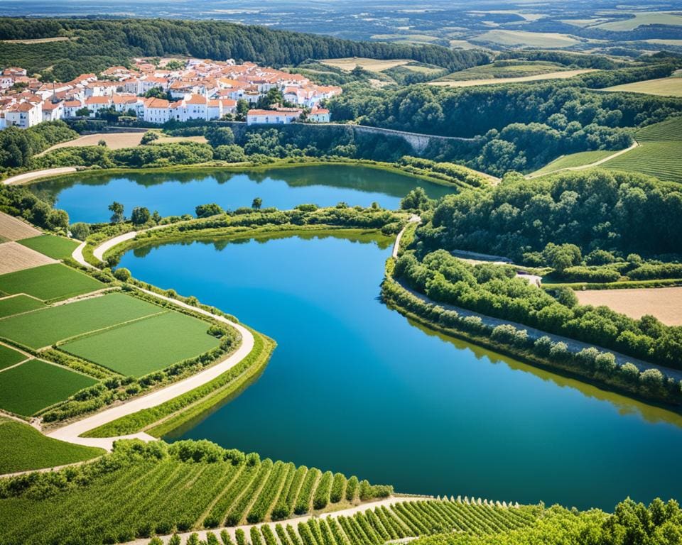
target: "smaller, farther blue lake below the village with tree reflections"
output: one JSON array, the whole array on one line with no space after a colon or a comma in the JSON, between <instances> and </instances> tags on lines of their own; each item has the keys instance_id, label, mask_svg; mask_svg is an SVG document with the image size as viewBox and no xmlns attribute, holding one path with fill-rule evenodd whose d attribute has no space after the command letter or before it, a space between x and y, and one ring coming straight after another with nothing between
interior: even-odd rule
<instances>
[{"instance_id":1,"label":"smaller, farther blue lake below the village with tree reflections","mask_svg":"<svg viewBox=\"0 0 682 545\"><path fill-rule=\"evenodd\" d=\"M432 198L453 192L450 187L371 167L319 165L288 167L260 172L191 170L160 174L131 172L125 175L83 173L67 182L31 185L36 194L69 213L70 221L109 221L107 209L114 201L126 215L134 207L158 210L162 216L194 214L197 204L217 202L224 209L250 207L254 197L264 207L291 209L314 203L328 207L338 202L367 207L378 202L396 209L400 199L421 186Z\"/></svg>"}]
</instances>

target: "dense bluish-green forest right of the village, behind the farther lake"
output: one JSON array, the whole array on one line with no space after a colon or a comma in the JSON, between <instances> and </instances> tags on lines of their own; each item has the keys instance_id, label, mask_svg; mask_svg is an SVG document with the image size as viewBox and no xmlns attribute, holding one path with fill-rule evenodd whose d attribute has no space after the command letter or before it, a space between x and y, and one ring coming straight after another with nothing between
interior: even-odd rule
<instances>
[{"instance_id":1,"label":"dense bluish-green forest right of the village, behind the farther lake","mask_svg":"<svg viewBox=\"0 0 682 545\"><path fill-rule=\"evenodd\" d=\"M475 143L434 141L426 156L503 175L508 170L535 170L558 155L627 148L632 143L628 128L681 112L682 99L592 89L664 77L672 69L666 62L590 72L561 82L460 88L413 85L370 90L355 83L329 107L335 121L474 137Z\"/></svg>"}]
</instances>

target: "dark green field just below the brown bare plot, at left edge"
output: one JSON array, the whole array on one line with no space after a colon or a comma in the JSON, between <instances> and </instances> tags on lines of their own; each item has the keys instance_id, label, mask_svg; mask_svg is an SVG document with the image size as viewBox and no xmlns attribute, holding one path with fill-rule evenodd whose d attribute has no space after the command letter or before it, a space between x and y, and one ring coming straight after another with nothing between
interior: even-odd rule
<instances>
[{"instance_id":1,"label":"dark green field just below the brown bare plot, at left edge","mask_svg":"<svg viewBox=\"0 0 682 545\"><path fill-rule=\"evenodd\" d=\"M0 291L26 293L43 301L68 299L103 287L102 282L61 263L0 275Z\"/></svg>"}]
</instances>

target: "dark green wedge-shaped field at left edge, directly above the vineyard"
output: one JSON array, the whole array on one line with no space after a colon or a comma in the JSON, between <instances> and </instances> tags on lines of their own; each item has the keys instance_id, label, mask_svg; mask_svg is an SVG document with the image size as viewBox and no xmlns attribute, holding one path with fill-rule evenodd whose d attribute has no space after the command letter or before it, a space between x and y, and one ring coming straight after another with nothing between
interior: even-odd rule
<instances>
[{"instance_id":1,"label":"dark green wedge-shaped field at left edge, directly above the vineyard","mask_svg":"<svg viewBox=\"0 0 682 545\"><path fill-rule=\"evenodd\" d=\"M53 468L101 454L102 448L50 439L28 424L0 418L0 473Z\"/></svg>"}]
</instances>

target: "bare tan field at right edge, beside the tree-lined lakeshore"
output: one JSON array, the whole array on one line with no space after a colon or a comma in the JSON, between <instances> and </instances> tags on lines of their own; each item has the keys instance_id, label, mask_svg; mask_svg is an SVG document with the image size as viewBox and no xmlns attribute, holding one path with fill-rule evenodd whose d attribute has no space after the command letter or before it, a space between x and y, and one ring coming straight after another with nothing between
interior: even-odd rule
<instances>
[{"instance_id":1,"label":"bare tan field at right edge, beside the tree-lined lakeshore","mask_svg":"<svg viewBox=\"0 0 682 545\"><path fill-rule=\"evenodd\" d=\"M609 307L635 319L651 314L666 325L682 326L682 287L578 290L575 294L580 304Z\"/></svg>"}]
</instances>

